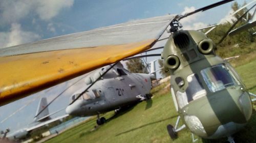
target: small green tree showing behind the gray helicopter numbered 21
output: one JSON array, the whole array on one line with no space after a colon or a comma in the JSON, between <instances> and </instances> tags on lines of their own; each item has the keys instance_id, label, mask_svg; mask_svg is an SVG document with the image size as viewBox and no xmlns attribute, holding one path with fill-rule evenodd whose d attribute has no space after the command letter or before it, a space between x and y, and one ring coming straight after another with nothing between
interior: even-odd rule
<instances>
[{"instance_id":1,"label":"small green tree showing behind the gray helicopter numbered 21","mask_svg":"<svg viewBox=\"0 0 256 143\"><path fill-rule=\"evenodd\" d=\"M130 72L133 73L148 73L143 62L139 59L132 59L126 62L126 66Z\"/></svg>"}]
</instances>

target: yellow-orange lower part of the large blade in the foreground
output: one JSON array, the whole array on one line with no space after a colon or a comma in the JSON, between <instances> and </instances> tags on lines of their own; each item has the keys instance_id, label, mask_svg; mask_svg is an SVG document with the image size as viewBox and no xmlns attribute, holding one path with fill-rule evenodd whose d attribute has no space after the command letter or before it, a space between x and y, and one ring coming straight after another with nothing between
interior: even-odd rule
<instances>
[{"instance_id":1,"label":"yellow-orange lower part of the large blade in the foreground","mask_svg":"<svg viewBox=\"0 0 256 143\"><path fill-rule=\"evenodd\" d=\"M0 57L0 106L138 54L155 41Z\"/></svg>"}]
</instances>

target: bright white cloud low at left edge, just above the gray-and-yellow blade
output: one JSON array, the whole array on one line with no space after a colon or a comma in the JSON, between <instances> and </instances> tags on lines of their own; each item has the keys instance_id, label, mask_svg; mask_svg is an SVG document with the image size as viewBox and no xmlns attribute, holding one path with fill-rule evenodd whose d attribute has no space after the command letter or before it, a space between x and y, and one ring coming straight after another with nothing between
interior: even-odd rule
<instances>
[{"instance_id":1,"label":"bright white cloud low at left edge, just above the gray-and-yellow blade","mask_svg":"<svg viewBox=\"0 0 256 143\"><path fill-rule=\"evenodd\" d=\"M9 32L0 32L0 48L28 43L40 39L33 32L23 31L18 23L12 23Z\"/></svg>"}]
</instances>

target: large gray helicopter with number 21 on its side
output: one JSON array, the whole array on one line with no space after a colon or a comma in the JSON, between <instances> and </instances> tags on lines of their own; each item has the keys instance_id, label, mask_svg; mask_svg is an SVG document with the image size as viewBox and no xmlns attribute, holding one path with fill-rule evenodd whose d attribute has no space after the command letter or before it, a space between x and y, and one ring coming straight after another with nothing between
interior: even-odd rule
<instances>
[{"instance_id":1,"label":"large gray helicopter with number 21 on its side","mask_svg":"<svg viewBox=\"0 0 256 143\"><path fill-rule=\"evenodd\" d=\"M124 69L121 63L117 63L108 72L106 70L111 68L110 65L96 70L84 79L86 85L71 96L70 103L73 104L66 108L66 112L72 116L97 115L97 124L102 125L106 119L99 118L99 114L150 99L151 81L156 78L155 74L152 74L155 70L153 63L150 74L131 73ZM106 73L100 80L81 94L104 72ZM79 95L82 96L75 101Z\"/></svg>"}]
</instances>

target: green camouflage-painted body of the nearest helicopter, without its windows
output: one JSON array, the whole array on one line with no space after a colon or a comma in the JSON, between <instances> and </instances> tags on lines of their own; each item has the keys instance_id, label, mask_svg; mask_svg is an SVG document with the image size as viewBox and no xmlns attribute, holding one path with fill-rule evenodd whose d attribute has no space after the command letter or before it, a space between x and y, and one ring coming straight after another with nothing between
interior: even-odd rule
<instances>
[{"instance_id":1,"label":"green camouflage-painted body of the nearest helicopter, without its windows","mask_svg":"<svg viewBox=\"0 0 256 143\"><path fill-rule=\"evenodd\" d=\"M186 91L188 88L187 76L193 73L197 74L201 86L206 91L205 96L190 101L184 107L178 106L178 112L187 127L184 116L196 116L202 123L206 134L200 130L192 129L195 134L203 138L229 136L248 122L252 105L244 84L236 71L215 54L214 42L204 33L182 30L173 33L164 46L162 59L164 59L164 68L171 73L170 83L175 93ZM219 64L229 67L233 72L231 74L236 76L235 79L239 84L217 92L211 92L200 72L202 69ZM176 77L181 77L184 85L178 85L175 81ZM244 94L244 97L240 99L242 94ZM240 103L240 100L242 100L242 103ZM230 124L237 125L237 129L229 128ZM230 131L225 133L219 128ZM189 129L191 130L191 128ZM218 129L219 131L217 131Z\"/></svg>"}]
</instances>

